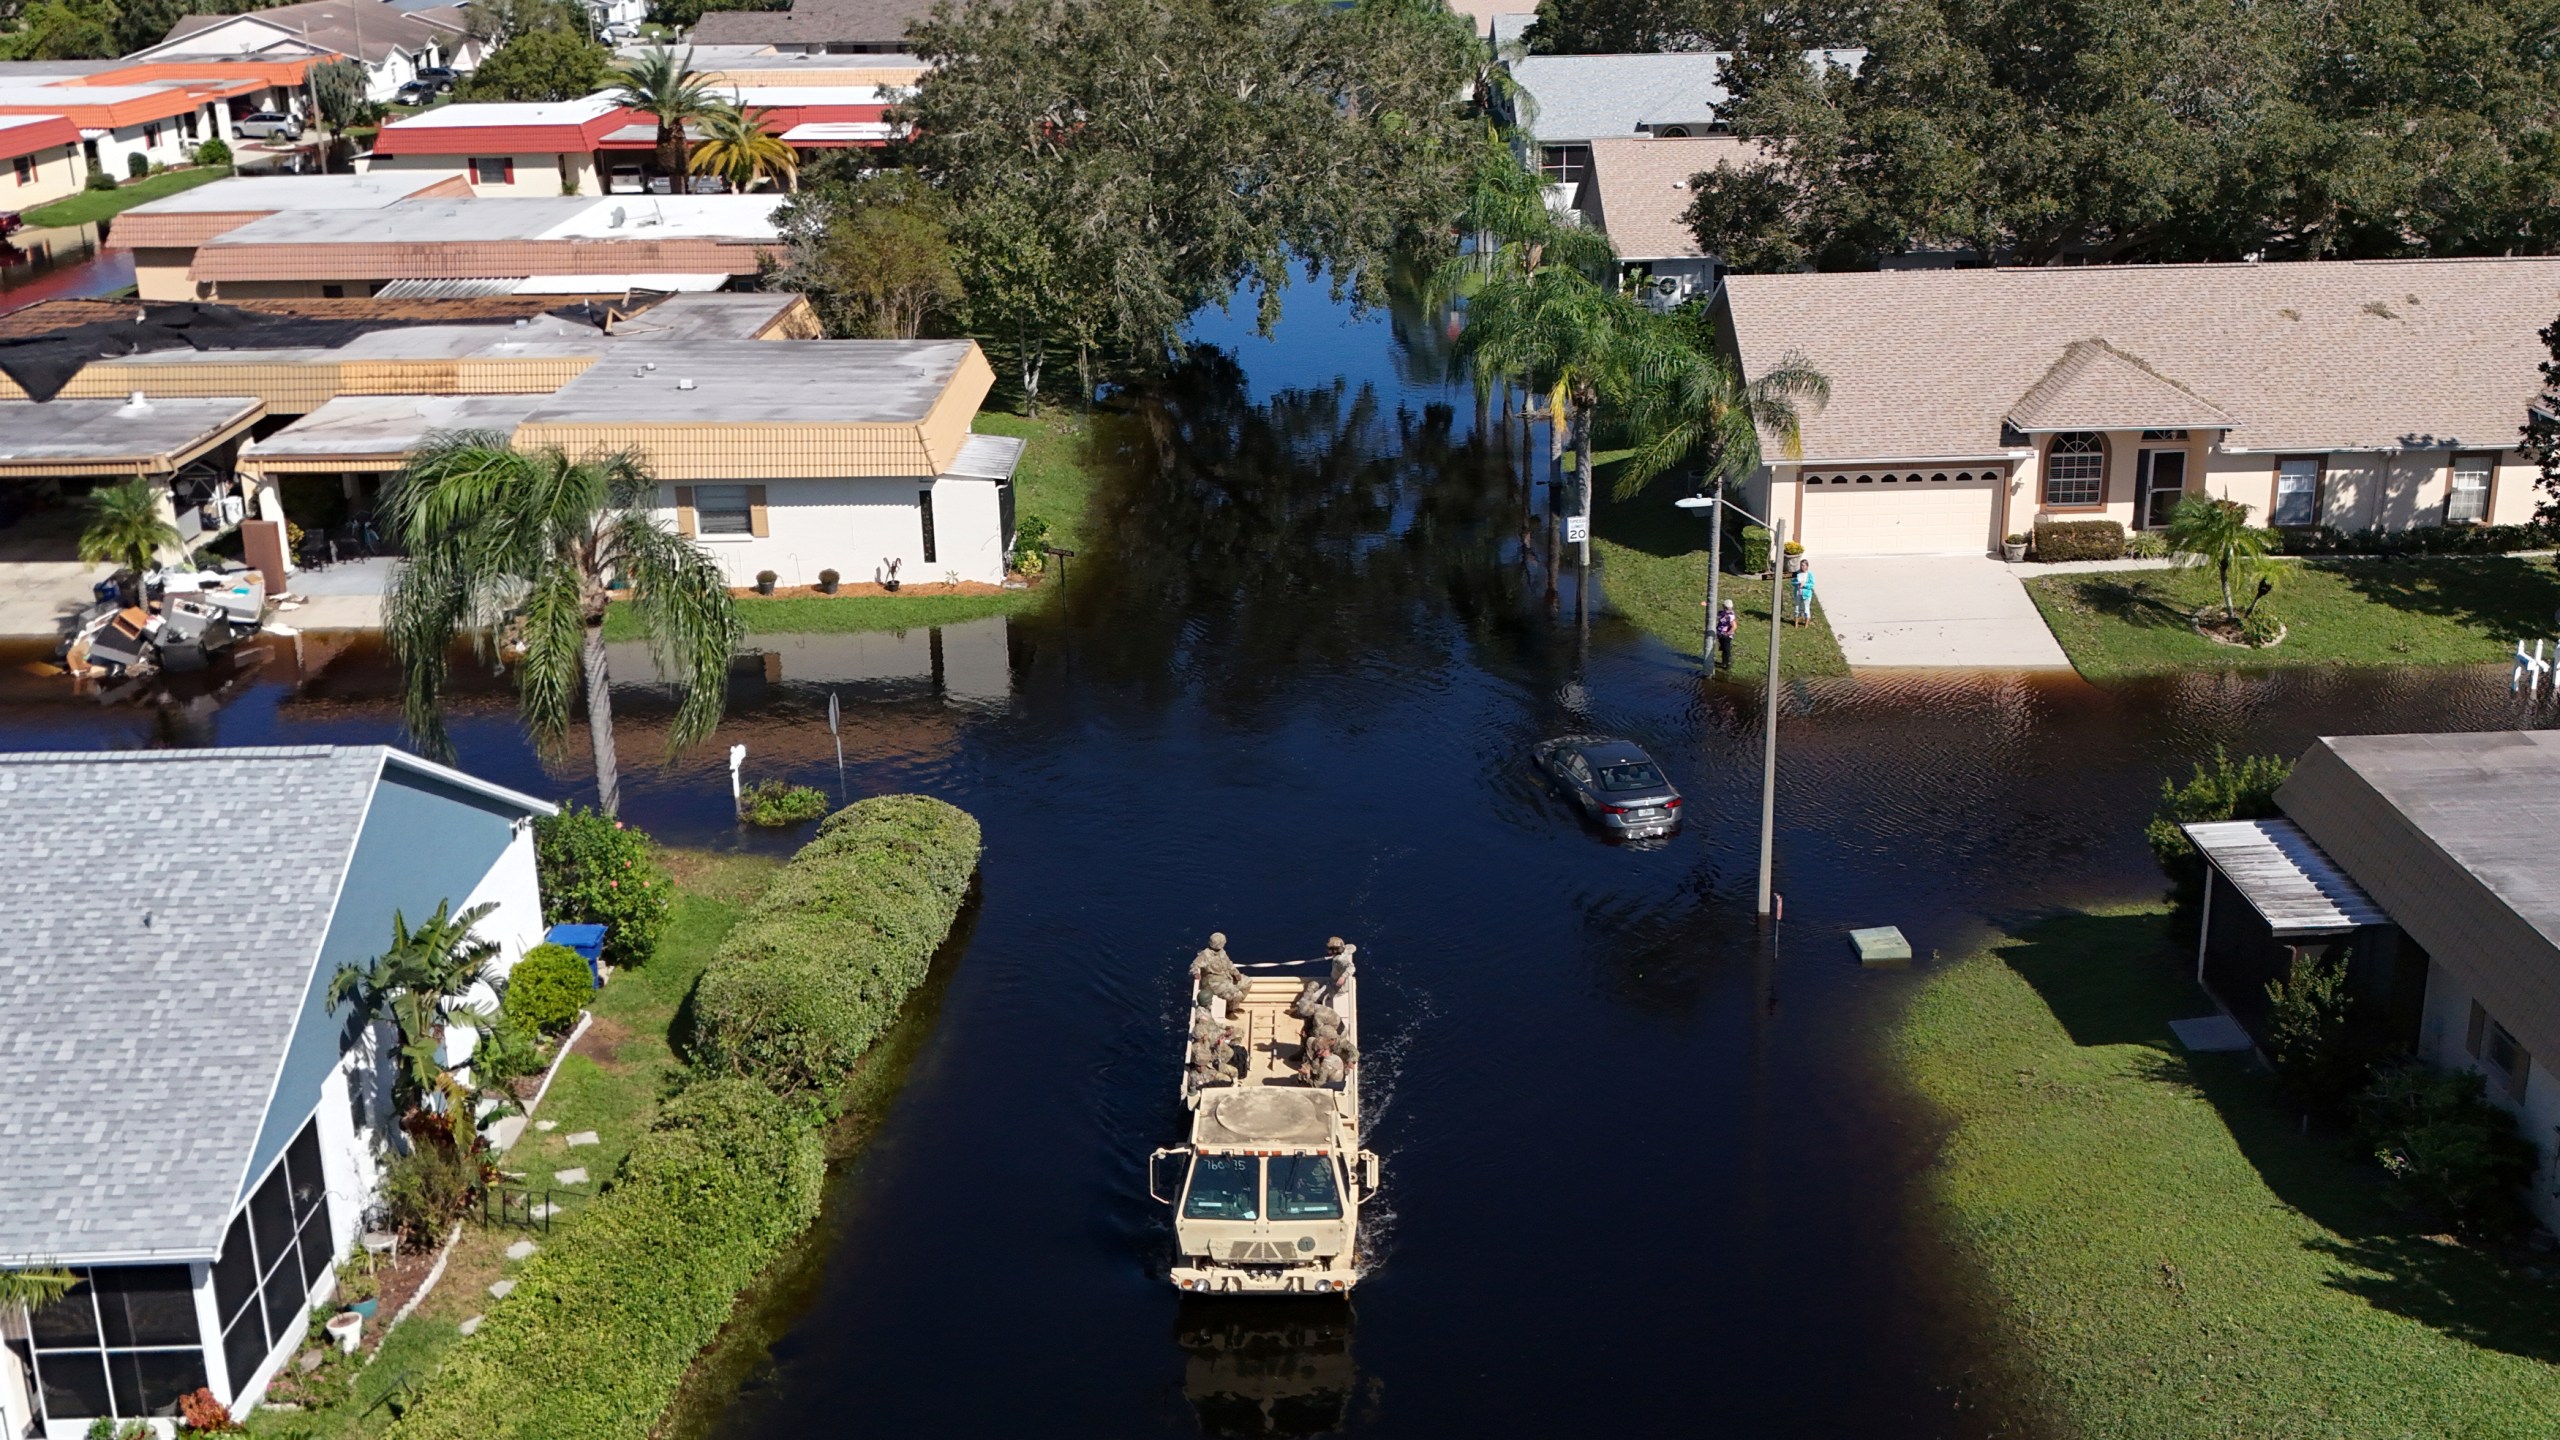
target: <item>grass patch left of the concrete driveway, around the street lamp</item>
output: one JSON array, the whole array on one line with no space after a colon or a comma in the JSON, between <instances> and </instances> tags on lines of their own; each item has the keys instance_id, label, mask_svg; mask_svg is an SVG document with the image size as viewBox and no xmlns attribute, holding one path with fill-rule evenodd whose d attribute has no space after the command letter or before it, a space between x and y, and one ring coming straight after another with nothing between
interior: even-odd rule
<instances>
[{"instance_id":1,"label":"grass patch left of the concrete driveway, around the street lamp","mask_svg":"<svg viewBox=\"0 0 2560 1440\"><path fill-rule=\"evenodd\" d=\"M1677 471L1631 500L1615 500L1610 484L1623 464L1626 451L1603 451L1595 466L1600 500L1592 556L1600 561L1600 594L1646 635L1695 656L1708 628L1708 523L1672 505L1690 492ZM1723 594L1741 620L1733 633L1736 674L1769 674L1769 582L1728 571ZM1779 674L1848 674L1841 641L1823 618L1820 592L1812 600L1812 625L1787 628L1779 638Z\"/></svg>"}]
</instances>

